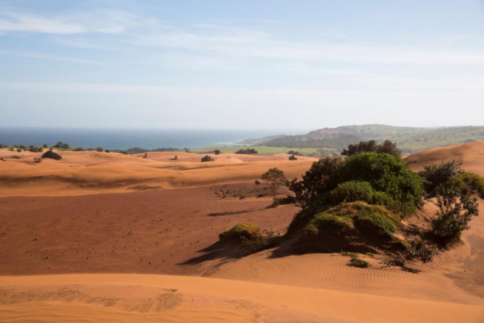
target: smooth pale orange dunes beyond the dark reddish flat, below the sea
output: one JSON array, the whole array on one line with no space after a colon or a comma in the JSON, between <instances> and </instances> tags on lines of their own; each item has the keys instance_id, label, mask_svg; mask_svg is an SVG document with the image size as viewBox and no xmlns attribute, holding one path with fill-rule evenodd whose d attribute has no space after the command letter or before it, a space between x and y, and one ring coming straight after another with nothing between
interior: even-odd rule
<instances>
[{"instance_id":1,"label":"smooth pale orange dunes beyond the dark reddish flat, below the sea","mask_svg":"<svg viewBox=\"0 0 484 323\"><path fill-rule=\"evenodd\" d=\"M156 152L124 155L96 151L61 151L62 160L42 159L40 153L0 149L0 196L84 195L129 192L145 186L156 189L200 187L211 184L255 180L271 167L291 178L299 176L315 160L287 154L213 155L214 162L201 163L203 155L185 152ZM171 160L174 155L177 160ZM14 156L19 158L13 158Z\"/></svg>"}]
</instances>

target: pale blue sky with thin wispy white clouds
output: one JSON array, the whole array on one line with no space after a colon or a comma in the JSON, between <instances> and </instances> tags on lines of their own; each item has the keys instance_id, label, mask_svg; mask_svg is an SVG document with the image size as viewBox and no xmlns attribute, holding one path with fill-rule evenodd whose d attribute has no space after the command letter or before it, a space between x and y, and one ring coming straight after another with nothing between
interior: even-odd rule
<instances>
[{"instance_id":1,"label":"pale blue sky with thin wispy white clouds","mask_svg":"<svg viewBox=\"0 0 484 323\"><path fill-rule=\"evenodd\" d=\"M0 0L0 127L484 125L483 1Z\"/></svg>"}]
</instances>

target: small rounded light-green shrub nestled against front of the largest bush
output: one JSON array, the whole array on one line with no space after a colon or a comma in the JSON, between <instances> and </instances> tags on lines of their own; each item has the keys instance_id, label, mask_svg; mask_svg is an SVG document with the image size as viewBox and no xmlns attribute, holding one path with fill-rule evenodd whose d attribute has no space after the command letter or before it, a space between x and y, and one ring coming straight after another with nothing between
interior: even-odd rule
<instances>
[{"instance_id":1,"label":"small rounded light-green shrub nestled against front of the largest bush","mask_svg":"<svg viewBox=\"0 0 484 323\"><path fill-rule=\"evenodd\" d=\"M373 189L369 182L355 180L343 182L329 193L329 201L333 204L355 201L372 203Z\"/></svg>"}]
</instances>

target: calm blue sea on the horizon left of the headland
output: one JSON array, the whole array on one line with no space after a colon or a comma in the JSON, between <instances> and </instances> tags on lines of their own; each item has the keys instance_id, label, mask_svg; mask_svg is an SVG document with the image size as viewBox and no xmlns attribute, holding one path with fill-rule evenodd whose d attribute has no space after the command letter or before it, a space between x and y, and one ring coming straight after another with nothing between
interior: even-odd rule
<instances>
[{"instance_id":1,"label":"calm blue sea on the horizon left of the headland","mask_svg":"<svg viewBox=\"0 0 484 323\"><path fill-rule=\"evenodd\" d=\"M155 130L155 129L46 129L0 128L4 145L54 145L62 141L71 147L105 149L202 148L231 146L237 142L279 134L278 131L257 130Z\"/></svg>"}]
</instances>

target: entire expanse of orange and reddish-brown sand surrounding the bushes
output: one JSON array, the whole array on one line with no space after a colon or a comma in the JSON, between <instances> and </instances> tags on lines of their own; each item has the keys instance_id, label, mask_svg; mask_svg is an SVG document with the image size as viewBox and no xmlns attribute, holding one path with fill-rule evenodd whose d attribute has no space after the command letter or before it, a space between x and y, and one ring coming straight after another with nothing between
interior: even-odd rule
<instances>
[{"instance_id":1,"label":"entire expanse of orange and reddish-brown sand surrounding the bushes","mask_svg":"<svg viewBox=\"0 0 484 323\"><path fill-rule=\"evenodd\" d=\"M38 165L38 154L0 150L0 321L484 322L484 201L463 242L413 264L417 274L368 255L369 269L339 254L237 259L217 243L222 230L282 231L299 210L268 208L254 179L275 166L298 176L314 159L176 154L62 152ZM457 159L482 176L482 156L471 143L406 160L420 170Z\"/></svg>"}]
</instances>

